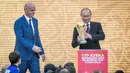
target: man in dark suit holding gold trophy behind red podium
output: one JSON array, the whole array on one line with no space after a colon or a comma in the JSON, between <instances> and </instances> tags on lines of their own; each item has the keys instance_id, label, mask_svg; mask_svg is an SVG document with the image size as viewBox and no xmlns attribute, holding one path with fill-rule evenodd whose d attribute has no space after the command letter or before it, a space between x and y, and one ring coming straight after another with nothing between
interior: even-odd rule
<instances>
[{"instance_id":1,"label":"man in dark suit holding gold trophy behind red podium","mask_svg":"<svg viewBox=\"0 0 130 73\"><path fill-rule=\"evenodd\" d=\"M77 28L74 27L72 47L75 48L79 45L80 49L101 49L99 40L105 39L105 34L102 30L102 26L98 22L92 22L91 20L91 10L84 8L81 10L80 16L82 21L87 28L84 37L80 37ZM81 40L85 39L87 43L80 43Z\"/></svg>"}]
</instances>

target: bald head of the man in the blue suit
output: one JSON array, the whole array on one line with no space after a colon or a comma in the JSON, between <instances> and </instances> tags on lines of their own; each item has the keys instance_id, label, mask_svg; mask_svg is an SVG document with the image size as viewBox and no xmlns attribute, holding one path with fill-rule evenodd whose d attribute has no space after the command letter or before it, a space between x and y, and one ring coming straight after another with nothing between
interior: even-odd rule
<instances>
[{"instance_id":1,"label":"bald head of the man in the blue suit","mask_svg":"<svg viewBox=\"0 0 130 73\"><path fill-rule=\"evenodd\" d=\"M35 5L31 2L26 3L24 6L24 12L27 17L33 17L35 14Z\"/></svg>"}]
</instances>

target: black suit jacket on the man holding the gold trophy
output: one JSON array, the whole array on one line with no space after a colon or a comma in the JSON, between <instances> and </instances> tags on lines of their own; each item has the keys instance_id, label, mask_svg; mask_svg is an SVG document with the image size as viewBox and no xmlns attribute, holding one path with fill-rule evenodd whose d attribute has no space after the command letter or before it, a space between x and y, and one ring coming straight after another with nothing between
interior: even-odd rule
<instances>
[{"instance_id":1,"label":"black suit jacket on the man holding the gold trophy","mask_svg":"<svg viewBox=\"0 0 130 73\"><path fill-rule=\"evenodd\" d=\"M74 27L73 31L73 39L72 39L72 47L75 48L79 45L80 49L101 49L99 40L105 39L105 34L102 30L102 26L98 22L90 22L90 34L92 36L91 39L86 39L86 44L79 44L77 40L77 36L79 35L76 27Z\"/></svg>"}]
</instances>

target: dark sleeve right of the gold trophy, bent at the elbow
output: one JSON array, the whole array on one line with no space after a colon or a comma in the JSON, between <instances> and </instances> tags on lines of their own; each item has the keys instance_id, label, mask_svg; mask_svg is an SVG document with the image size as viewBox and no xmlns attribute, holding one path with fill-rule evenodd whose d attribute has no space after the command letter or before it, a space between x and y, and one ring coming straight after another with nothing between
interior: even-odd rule
<instances>
[{"instance_id":1,"label":"dark sleeve right of the gold trophy, bent at the elbow","mask_svg":"<svg viewBox=\"0 0 130 73\"><path fill-rule=\"evenodd\" d=\"M100 23L97 25L97 33L92 34L92 40L93 41L98 41L98 40L104 40L105 39L105 34L103 32L102 26Z\"/></svg>"}]
</instances>

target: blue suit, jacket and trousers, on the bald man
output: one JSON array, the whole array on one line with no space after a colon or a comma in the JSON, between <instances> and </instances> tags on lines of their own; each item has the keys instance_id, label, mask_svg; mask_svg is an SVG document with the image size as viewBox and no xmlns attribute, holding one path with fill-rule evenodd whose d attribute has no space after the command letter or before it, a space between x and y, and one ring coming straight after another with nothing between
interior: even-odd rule
<instances>
[{"instance_id":1,"label":"blue suit, jacket and trousers, on the bald man","mask_svg":"<svg viewBox=\"0 0 130 73\"><path fill-rule=\"evenodd\" d=\"M39 55L44 54L38 32L38 20L32 17L34 33L23 15L14 23L14 32L16 35L15 51L20 52L21 64L19 65L20 73L25 73L27 68L31 73L40 73ZM39 46L42 50L39 54L35 53L32 48L34 45Z\"/></svg>"}]
</instances>

